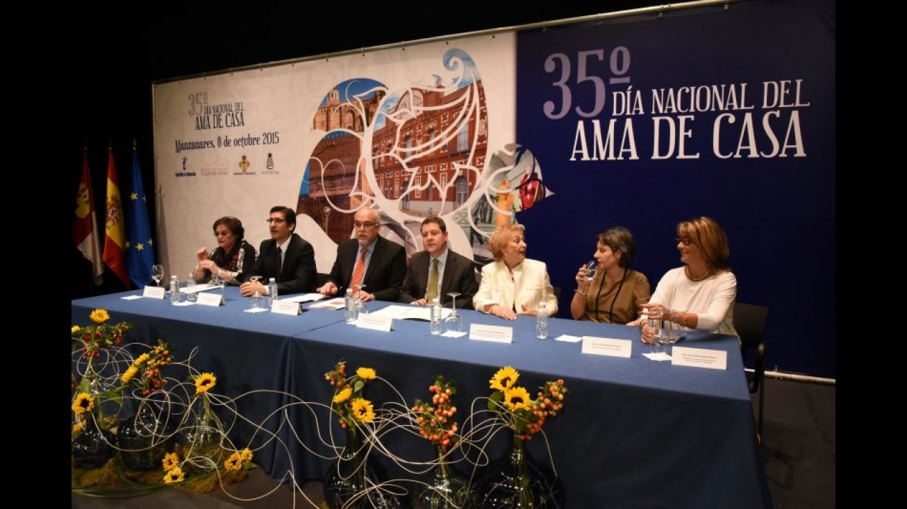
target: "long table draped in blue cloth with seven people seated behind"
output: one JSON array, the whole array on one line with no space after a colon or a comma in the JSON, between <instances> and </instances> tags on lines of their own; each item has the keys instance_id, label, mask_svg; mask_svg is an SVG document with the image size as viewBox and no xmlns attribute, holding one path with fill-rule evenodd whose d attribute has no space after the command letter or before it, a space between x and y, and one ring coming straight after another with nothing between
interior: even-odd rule
<instances>
[{"instance_id":1,"label":"long table draped in blue cloth with seven people seated behind","mask_svg":"<svg viewBox=\"0 0 907 509\"><path fill-rule=\"evenodd\" d=\"M227 306L220 308L122 299L135 293L73 300L73 324L87 323L93 308L105 308L114 321L135 322L137 333L151 341L165 338L180 351L198 347L193 366L217 372L218 389L228 396L253 388L275 391L253 398L254 403L240 400L238 408L280 437L256 452L256 461L276 479L292 471L304 482L325 472L327 460L320 455L330 452L320 444L324 422L309 406L288 403L298 398L327 404L333 388L324 374L340 359L350 371L375 368L409 406L415 398L430 397L427 387L435 375L455 380L461 416L469 414L473 402L474 409L482 409L478 398L490 395L489 379L500 367L511 366L531 394L556 378L570 389L564 411L543 427L547 444L541 436L528 444L539 463L549 460L550 445L568 507L771 506L736 337L692 333L682 343L726 351L727 369L717 370L642 357L649 347L639 343L636 328L626 326L551 318L550 338L539 340L532 317L505 321L460 311L463 330L473 323L513 328L512 343L494 343L433 336L418 320L395 319L390 332L356 328L343 321L342 311L249 314L243 312L249 299L231 288L225 291ZM374 310L386 305L368 304ZM554 339L561 334L631 339L632 355L583 354L580 343ZM374 387L368 396L375 402L401 397ZM278 407L284 411L272 415ZM383 440L395 455L414 461L433 455L427 443L408 434ZM489 454L500 454L505 442L505 436L496 437ZM390 471L399 474L402 468L390 464Z\"/></svg>"}]
</instances>

